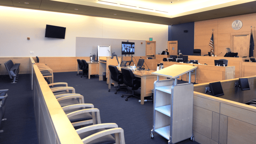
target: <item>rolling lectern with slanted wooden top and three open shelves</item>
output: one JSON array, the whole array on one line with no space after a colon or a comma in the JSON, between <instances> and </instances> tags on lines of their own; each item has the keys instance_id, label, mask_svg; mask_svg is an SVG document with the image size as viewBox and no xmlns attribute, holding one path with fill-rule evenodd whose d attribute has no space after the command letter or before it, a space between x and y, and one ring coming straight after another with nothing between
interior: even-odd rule
<instances>
[{"instance_id":1,"label":"rolling lectern with slanted wooden top and three open shelves","mask_svg":"<svg viewBox=\"0 0 256 144\"><path fill-rule=\"evenodd\" d=\"M194 141L193 127L193 91L191 72L195 66L172 65L153 72L157 75L154 82L154 115L151 138L156 132L174 144L190 138ZM189 83L177 85L179 76L189 73ZM159 80L159 76L171 79Z\"/></svg>"}]
</instances>

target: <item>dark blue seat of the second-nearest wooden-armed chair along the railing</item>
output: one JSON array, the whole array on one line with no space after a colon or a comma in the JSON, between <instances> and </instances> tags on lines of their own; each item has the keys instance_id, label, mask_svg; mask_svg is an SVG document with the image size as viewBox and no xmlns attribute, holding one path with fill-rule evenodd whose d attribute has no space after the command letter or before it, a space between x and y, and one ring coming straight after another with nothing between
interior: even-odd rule
<instances>
[{"instance_id":1,"label":"dark blue seat of the second-nearest wooden-armed chair along the railing","mask_svg":"<svg viewBox=\"0 0 256 144\"><path fill-rule=\"evenodd\" d=\"M69 114L71 112L75 112L75 111L82 110L82 109L85 109L85 108L75 108L75 109L70 109L70 110L64 110L64 112L65 112L65 114ZM70 120L71 123L73 123L73 122L91 120L92 115L90 113L82 113L82 114L78 114L78 115L69 117L68 119Z\"/></svg>"}]
</instances>

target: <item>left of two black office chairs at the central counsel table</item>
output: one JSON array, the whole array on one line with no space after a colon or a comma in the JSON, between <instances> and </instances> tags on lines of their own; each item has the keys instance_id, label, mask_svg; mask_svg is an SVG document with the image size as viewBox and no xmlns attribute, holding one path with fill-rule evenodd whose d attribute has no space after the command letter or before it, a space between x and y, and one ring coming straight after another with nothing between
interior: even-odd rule
<instances>
[{"instance_id":1,"label":"left of two black office chairs at the central counsel table","mask_svg":"<svg viewBox=\"0 0 256 144\"><path fill-rule=\"evenodd\" d=\"M123 84L124 81L123 81L123 75L121 73L119 73L117 67L113 66L113 65L108 65L108 68L109 68L109 71L111 73L111 79L118 82L118 88L109 89L108 92L110 92L110 90L116 90L116 92L119 91L119 90L124 90L124 91L126 91L126 93L128 93L127 89L121 89L120 88L120 84ZM116 94L116 92L115 92L115 94Z\"/></svg>"}]
</instances>

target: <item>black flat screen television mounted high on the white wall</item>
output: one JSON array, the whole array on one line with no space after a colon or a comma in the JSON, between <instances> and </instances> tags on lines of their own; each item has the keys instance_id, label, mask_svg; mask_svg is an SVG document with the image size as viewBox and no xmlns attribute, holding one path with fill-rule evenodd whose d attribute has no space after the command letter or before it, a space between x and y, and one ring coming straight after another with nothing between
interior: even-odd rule
<instances>
[{"instance_id":1,"label":"black flat screen television mounted high on the white wall","mask_svg":"<svg viewBox=\"0 0 256 144\"><path fill-rule=\"evenodd\" d=\"M65 33L66 33L65 27L46 25L45 37L47 38L65 39Z\"/></svg>"}]
</instances>

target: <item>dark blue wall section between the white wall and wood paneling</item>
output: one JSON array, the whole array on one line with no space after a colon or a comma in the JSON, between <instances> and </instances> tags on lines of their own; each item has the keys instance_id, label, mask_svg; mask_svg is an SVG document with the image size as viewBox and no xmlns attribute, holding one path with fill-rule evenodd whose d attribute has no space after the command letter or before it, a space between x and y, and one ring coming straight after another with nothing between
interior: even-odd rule
<instances>
[{"instance_id":1,"label":"dark blue wall section between the white wall and wood paneling","mask_svg":"<svg viewBox=\"0 0 256 144\"><path fill-rule=\"evenodd\" d=\"M178 41L178 50L183 55L193 55L194 26L194 22L168 26L168 41Z\"/></svg>"}]
</instances>

